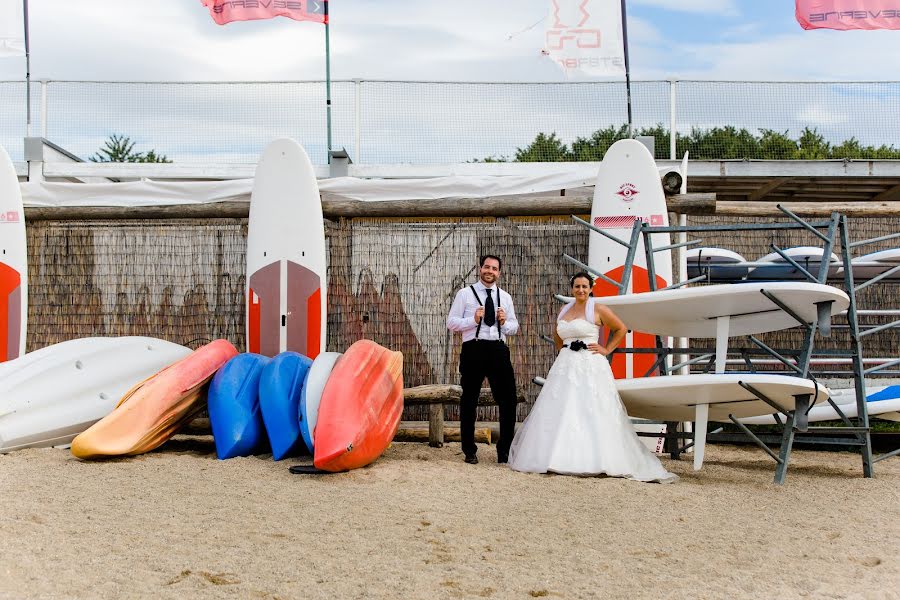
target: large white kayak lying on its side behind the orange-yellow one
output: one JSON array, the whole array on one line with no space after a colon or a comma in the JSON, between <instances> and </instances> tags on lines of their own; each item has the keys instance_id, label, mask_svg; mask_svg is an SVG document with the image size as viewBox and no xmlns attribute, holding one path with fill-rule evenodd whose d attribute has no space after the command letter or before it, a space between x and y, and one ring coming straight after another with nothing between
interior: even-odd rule
<instances>
[{"instance_id":1,"label":"large white kayak lying on its side behind the orange-yellow one","mask_svg":"<svg viewBox=\"0 0 900 600\"><path fill-rule=\"evenodd\" d=\"M0 453L70 444L135 384L190 353L149 337L82 338L0 363Z\"/></svg>"}]
</instances>

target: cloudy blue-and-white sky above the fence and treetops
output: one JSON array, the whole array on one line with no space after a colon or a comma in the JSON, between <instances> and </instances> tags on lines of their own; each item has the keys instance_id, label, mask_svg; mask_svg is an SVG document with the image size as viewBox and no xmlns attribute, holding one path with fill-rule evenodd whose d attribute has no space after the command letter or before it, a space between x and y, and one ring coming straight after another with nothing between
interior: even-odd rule
<instances>
[{"instance_id":1,"label":"cloudy blue-and-white sky above the fence and treetops","mask_svg":"<svg viewBox=\"0 0 900 600\"><path fill-rule=\"evenodd\" d=\"M83 83L321 82L321 24L276 18L220 26L201 0L28 6L32 81L54 82L41 122L40 94L32 95L32 134L82 158L112 134L179 162L252 162L282 135L301 140L316 162L327 156L319 83ZM455 163L510 157L541 132L572 143L622 125L622 77L567 79L542 54L550 7L550 0L331 0L332 147L348 148L355 162ZM682 133L734 125L796 138L808 127L835 143L900 139L900 121L890 117L900 104L897 84L693 83L898 81L900 31L804 31L791 0L628 0L627 15L636 127L670 121L669 84L642 82L678 79ZM0 58L0 144L16 160L28 130L24 86L3 82L24 74L23 58ZM70 81L79 83L60 83ZM404 83L381 83L396 81ZM406 83L422 81L599 84Z\"/></svg>"}]
</instances>

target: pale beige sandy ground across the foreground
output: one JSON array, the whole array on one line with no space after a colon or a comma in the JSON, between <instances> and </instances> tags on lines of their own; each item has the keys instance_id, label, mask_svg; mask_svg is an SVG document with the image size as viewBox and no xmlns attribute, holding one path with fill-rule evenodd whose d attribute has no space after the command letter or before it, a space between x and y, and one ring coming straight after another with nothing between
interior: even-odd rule
<instances>
[{"instance_id":1,"label":"pale beige sandy ground across the foreground","mask_svg":"<svg viewBox=\"0 0 900 600\"><path fill-rule=\"evenodd\" d=\"M0 456L2 598L897 598L900 459L709 446L673 485L528 475L459 444L374 465Z\"/></svg>"}]
</instances>

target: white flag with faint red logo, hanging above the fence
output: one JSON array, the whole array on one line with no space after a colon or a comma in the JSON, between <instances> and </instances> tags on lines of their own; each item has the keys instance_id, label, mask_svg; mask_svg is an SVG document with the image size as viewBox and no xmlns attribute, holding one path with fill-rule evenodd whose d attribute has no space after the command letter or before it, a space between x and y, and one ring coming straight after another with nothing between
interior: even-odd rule
<instances>
[{"instance_id":1,"label":"white flag with faint red logo, hanging above the fence","mask_svg":"<svg viewBox=\"0 0 900 600\"><path fill-rule=\"evenodd\" d=\"M624 75L624 48L619 0L550 0L544 54L566 76Z\"/></svg>"}]
</instances>

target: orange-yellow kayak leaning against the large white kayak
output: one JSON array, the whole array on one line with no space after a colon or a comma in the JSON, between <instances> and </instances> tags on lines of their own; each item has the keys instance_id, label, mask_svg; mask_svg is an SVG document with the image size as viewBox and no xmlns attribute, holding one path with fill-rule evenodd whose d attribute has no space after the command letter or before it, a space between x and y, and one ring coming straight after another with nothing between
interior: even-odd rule
<instances>
[{"instance_id":1,"label":"orange-yellow kayak leaning against the large white kayak","mask_svg":"<svg viewBox=\"0 0 900 600\"><path fill-rule=\"evenodd\" d=\"M237 353L227 340L215 340L137 384L72 441L72 454L134 456L159 447L203 409L206 384Z\"/></svg>"}]
</instances>

